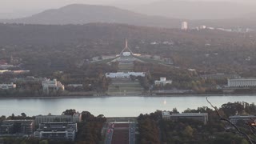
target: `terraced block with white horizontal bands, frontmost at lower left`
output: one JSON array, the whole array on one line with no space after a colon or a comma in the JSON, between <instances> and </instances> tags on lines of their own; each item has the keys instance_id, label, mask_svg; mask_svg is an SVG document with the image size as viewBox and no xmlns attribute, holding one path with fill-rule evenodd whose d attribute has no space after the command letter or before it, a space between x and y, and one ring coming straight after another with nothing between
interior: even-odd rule
<instances>
[{"instance_id":1,"label":"terraced block with white horizontal bands, frontmost at lower left","mask_svg":"<svg viewBox=\"0 0 256 144\"><path fill-rule=\"evenodd\" d=\"M74 141L78 132L74 122L46 122L41 123L34 132L34 138Z\"/></svg>"}]
</instances>

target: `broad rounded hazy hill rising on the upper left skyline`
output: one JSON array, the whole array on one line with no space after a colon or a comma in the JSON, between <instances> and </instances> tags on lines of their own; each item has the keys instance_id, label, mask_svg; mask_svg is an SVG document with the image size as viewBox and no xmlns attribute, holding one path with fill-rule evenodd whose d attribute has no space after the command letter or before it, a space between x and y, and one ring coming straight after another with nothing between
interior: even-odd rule
<instances>
[{"instance_id":1,"label":"broad rounded hazy hill rising on the upper left skyline","mask_svg":"<svg viewBox=\"0 0 256 144\"><path fill-rule=\"evenodd\" d=\"M27 18L2 20L7 23L43 25L86 24L90 22L125 23L136 26L180 27L181 20L137 14L114 6L73 4L46 10Z\"/></svg>"}]
</instances>

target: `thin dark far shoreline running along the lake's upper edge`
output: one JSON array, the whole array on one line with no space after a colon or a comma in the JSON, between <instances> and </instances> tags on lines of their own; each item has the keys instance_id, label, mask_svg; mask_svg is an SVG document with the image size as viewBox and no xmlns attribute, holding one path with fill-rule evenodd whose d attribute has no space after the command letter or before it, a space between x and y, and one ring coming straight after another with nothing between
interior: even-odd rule
<instances>
[{"instance_id":1,"label":"thin dark far shoreline running along the lake's upper edge","mask_svg":"<svg viewBox=\"0 0 256 144\"><path fill-rule=\"evenodd\" d=\"M55 96L55 97L0 97L1 99L70 99L70 98L115 98L115 97L145 97L145 98L164 98L164 97L230 97L230 96L256 96L256 94L173 94L173 95L106 95L106 96Z\"/></svg>"}]
</instances>

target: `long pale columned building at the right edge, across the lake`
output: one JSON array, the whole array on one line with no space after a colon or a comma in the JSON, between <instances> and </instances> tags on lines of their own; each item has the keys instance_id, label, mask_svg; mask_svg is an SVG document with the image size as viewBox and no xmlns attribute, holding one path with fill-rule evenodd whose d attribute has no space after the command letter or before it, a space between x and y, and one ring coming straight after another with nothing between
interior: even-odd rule
<instances>
[{"instance_id":1,"label":"long pale columned building at the right edge, across the lake","mask_svg":"<svg viewBox=\"0 0 256 144\"><path fill-rule=\"evenodd\" d=\"M254 87L256 86L256 78L236 78L228 79L229 87Z\"/></svg>"}]
</instances>

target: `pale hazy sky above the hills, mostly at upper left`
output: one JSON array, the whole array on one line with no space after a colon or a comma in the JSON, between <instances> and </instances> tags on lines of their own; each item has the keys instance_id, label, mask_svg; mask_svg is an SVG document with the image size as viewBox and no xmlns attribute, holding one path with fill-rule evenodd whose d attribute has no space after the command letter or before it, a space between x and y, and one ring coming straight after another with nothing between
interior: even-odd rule
<instances>
[{"instance_id":1,"label":"pale hazy sky above the hills, mostly at upper left","mask_svg":"<svg viewBox=\"0 0 256 144\"><path fill-rule=\"evenodd\" d=\"M54 9L73 3L85 4L146 4L161 0L0 0L0 18L20 18L37 14L42 10ZM179 0L177 0L179 1ZM186 1L216 1L216 0L186 0ZM254 2L255 0L218 0L231 2ZM255 2L256 3L256 2Z\"/></svg>"}]
</instances>

